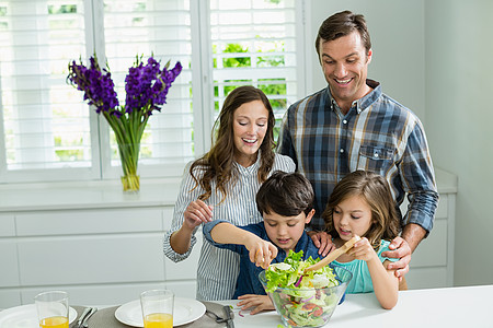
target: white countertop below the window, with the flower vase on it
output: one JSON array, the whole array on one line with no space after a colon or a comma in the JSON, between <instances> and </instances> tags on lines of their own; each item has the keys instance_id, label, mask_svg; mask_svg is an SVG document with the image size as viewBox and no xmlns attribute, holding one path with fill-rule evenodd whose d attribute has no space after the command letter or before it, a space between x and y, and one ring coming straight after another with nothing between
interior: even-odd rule
<instances>
[{"instance_id":1,"label":"white countertop below the window, with the flower vase on it","mask_svg":"<svg viewBox=\"0 0 493 328\"><path fill-rule=\"evenodd\" d=\"M457 177L436 169L438 191L457 192ZM126 194L121 181L1 185L0 213L39 210L174 206L180 178L141 179L138 194Z\"/></svg>"}]
</instances>

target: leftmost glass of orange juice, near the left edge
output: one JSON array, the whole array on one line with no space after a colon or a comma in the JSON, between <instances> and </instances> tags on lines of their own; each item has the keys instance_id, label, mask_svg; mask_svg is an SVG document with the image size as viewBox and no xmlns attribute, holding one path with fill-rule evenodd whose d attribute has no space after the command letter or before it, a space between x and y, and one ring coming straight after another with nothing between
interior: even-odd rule
<instances>
[{"instance_id":1,"label":"leftmost glass of orange juice, near the left edge","mask_svg":"<svg viewBox=\"0 0 493 328\"><path fill-rule=\"evenodd\" d=\"M41 328L68 328L68 294L61 291L44 292L34 297Z\"/></svg>"}]
</instances>

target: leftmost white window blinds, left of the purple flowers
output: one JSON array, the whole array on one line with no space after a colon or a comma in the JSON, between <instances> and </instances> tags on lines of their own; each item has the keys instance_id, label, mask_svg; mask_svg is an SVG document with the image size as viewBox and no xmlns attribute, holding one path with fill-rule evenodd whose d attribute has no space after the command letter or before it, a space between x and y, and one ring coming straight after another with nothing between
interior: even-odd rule
<instances>
[{"instance_id":1,"label":"leftmost white window blinds, left of the purple flowers","mask_svg":"<svg viewBox=\"0 0 493 328\"><path fill-rule=\"evenodd\" d=\"M0 42L2 180L50 178L66 163L90 176L89 112L65 82L69 58L85 54L83 1L0 1Z\"/></svg>"}]
</instances>

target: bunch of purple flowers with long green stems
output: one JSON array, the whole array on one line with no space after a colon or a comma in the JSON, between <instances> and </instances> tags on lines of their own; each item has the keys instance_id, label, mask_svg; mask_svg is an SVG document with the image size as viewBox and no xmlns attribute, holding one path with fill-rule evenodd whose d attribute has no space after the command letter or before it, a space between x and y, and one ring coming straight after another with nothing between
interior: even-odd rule
<instances>
[{"instance_id":1,"label":"bunch of purple flowers with long green stems","mask_svg":"<svg viewBox=\"0 0 493 328\"><path fill-rule=\"evenodd\" d=\"M161 69L160 62L152 57L147 60L147 65L137 58L125 78L126 99L125 106L121 106L112 74L105 69L101 70L95 57L90 58L89 68L82 62L69 63L67 82L83 92L84 101L94 105L98 114L103 114L115 132L125 176L136 174L138 144L147 120L152 110L161 110L171 83L181 71L180 62L168 70L168 65Z\"/></svg>"}]
</instances>

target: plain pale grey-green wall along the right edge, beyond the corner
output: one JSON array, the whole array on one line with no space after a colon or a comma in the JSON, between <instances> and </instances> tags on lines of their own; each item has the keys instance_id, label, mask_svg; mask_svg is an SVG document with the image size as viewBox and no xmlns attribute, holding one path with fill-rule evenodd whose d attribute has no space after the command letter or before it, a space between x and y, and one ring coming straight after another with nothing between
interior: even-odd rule
<instances>
[{"instance_id":1,"label":"plain pale grey-green wall along the right edge, beyond the corner","mask_svg":"<svg viewBox=\"0 0 493 328\"><path fill-rule=\"evenodd\" d=\"M425 7L426 121L436 166L459 178L455 284L493 283L493 2Z\"/></svg>"}]
</instances>

